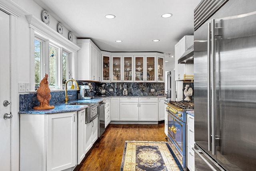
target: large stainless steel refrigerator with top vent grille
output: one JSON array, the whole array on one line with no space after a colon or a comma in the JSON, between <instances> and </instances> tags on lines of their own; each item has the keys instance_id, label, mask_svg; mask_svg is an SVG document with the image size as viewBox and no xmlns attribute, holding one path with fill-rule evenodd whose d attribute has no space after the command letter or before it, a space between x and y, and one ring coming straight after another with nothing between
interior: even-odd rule
<instances>
[{"instance_id":1,"label":"large stainless steel refrigerator with top vent grille","mask_svg":"<svg viewBox=\"0 0 256 171\"><path fill-rule=\"evenodd\" d=\"M195 170L256 170L256 1L194 12Z\"/></svg>"}]
</instances>

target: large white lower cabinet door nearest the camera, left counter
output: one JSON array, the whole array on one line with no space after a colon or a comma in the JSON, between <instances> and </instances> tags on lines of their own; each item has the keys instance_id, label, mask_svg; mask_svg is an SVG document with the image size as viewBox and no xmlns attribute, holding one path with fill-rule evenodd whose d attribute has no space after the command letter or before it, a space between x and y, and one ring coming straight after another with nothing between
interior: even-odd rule
<instances>
[{"instance_id":1,"label":"large white lower cabinet door nearest the camera, left counter","mask_svg":"<svg viewBox=\"0 0 256 171\"><path fill-rule=\"evenodd\" d=\"M47 171L76 165L77 113L47 115Z\"/></svg>"}]
</instances>

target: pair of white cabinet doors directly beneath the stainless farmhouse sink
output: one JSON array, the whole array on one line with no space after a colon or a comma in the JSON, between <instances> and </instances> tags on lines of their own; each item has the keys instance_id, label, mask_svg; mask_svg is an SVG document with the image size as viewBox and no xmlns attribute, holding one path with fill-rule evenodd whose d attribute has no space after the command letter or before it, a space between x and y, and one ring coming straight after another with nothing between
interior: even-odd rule
<instances>
[{"instance_id":1,"label":"pair of white cabinet doors directly beneath the stainless farmhouse sink","mask_svg":"<svg viewBox=\"0 0 256 171\"><path fill-rule=\"evenodd\" d=\"M85 153L87 153L92 145L98 139L98 117L92 122L85 124Z\"/></svg>"}]
</instances>

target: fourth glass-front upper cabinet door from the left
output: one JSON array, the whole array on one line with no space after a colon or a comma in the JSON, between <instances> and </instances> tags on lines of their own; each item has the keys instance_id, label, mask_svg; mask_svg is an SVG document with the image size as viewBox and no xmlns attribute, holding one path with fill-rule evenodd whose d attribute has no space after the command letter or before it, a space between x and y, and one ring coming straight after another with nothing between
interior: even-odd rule
<instances>
[{"instance_id":1,"label":"fourth glass-front upper cabinet door from the left","mask_svg":"<svg viewBox=\"0 0 256 171\"><path fill-rule=\"evenodd\" d=\"M144 82L143 70L144 70L144 58L145 56L134 56L134 72L135 82Z\"/></svg>"}]
</instances>

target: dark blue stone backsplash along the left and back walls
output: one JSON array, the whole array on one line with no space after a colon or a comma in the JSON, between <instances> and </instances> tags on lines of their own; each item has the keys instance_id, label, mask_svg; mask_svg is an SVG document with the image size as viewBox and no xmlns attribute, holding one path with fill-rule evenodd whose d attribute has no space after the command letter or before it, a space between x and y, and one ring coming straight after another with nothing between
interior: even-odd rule
<instances>
[{"instance_id":1,"label":"dark blue stone backsplash along the left and back walls","mask_svg":"<svg viewBox=\"0 0 256 171\"><path fill-rule=\"evenodd\" d=\"M82 82L78 81L78 85L83 85ZM92 96L96 96L99 93L99 86L104 84L107 96L122 96L124 84L127 84L128 96L164 96L164 83L91 83L94 91ZM112 88L113 91L109 91ZM151 89L155 89L151 92ZM39 102L36 98L37 93L20 94L20 111L31 110L33 107L38 106ZM69 100L77 99L77 91L68 91ZM64 103L65 91L51 92L50 105L58 103Z\"/></svg>"}]
</instances>

